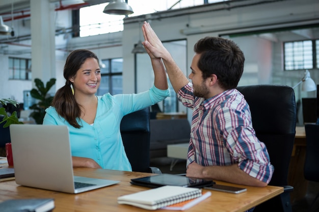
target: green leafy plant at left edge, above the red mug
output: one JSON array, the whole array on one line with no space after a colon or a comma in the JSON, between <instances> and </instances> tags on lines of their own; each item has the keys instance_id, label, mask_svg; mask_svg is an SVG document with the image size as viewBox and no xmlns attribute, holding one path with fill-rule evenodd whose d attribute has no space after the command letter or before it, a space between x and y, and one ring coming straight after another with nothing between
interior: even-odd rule
<instances>
[{"instance_id":1,"label":"green leafy plant at left edge, above the red mug","mask_svg":"<svg viewBox=\"0 0 319 212\"><path fill-rule=\"evenodd\" d=\"M15 107L18 107L18 105L19 105L19 103L17 103L13 99L0 99L0 103L3 106L6 106L7 104L12 104ZM5 123L3 126L4 128L9 127L11 124L23 124L22 122L19 121L16 111L14 111L12 114L8 114L6 112L6 109L4 107L1 107L0 108L0 116L3 116L0 124Z\"/></svg>"}]
</instances>

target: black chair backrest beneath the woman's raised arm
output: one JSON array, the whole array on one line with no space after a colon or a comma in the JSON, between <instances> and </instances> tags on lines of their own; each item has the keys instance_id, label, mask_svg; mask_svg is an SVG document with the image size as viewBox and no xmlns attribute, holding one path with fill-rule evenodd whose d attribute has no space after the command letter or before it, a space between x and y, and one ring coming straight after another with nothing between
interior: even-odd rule
<instances>
[{"instance_id":1,"label":"black chair backrest beneath the woman's raised arm","mask_svg":"<svg viewBox=\"0 0 319 212\"><path fill-rule=\"evenodd\" d=\"M150 109L145 108L123 117L121 135L132 171L150 172Z\"/></svg>"}]
</instances>

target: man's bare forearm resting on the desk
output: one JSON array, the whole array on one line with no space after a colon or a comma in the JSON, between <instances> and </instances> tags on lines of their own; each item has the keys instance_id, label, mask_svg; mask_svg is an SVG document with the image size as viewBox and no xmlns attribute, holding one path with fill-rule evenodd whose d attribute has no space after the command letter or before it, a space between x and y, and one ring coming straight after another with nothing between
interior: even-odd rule
<instances>
[{"instance_id":1,"label":"man's bare forearm resting on the desk","mask_svg":"<svg viewBox=\"0 0 319 212\"><path fill-rule=\"evenodd\" d=\"M238 168L238 164L230 166L201 166L194 162L188 166L186 176L215 179L246 186L265 187L268 185L248 175Z\"/></svg>"}]
</instances>

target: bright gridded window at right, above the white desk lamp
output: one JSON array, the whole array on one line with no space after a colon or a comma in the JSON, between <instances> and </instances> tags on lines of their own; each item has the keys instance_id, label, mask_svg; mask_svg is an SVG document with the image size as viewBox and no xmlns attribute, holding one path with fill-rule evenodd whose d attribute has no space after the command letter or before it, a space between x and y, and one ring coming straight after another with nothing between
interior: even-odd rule
<instances>
[{"instance_id":1,"label":"bright gridded window at right, above the white desk lamp","mask_svg":"<svg viewBox=\"0 0 319 212\"><path fill-rule=\"evenodd\" d=\"M313 69L313 43L311 40L284 43L284 70Z\"/></svg>"}]
</instances>

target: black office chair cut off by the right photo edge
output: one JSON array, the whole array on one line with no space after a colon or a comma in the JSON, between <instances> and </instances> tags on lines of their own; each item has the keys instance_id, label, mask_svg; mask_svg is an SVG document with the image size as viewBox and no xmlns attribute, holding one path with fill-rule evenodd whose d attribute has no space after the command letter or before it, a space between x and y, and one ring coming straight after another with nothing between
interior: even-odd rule
<instances>
[{"instance_id":1,"label":"black office chair cut off by the right photo edge","mask_svg":"<svg viewBox=\"0 0 319 212\"><path fill-rule=\"evenodd\" d=\"M319 125L305 125L306 131L306 160L304 165L304 176L305 179L310 181L315 181L319 183L319 166L317 162L319 161ZM316 197L312 201L309 207L309 211L317 211L319 208L315 208L316 210L312 210L314 203L319 197L319 192Z\"/></svg>"}]
</instances>

